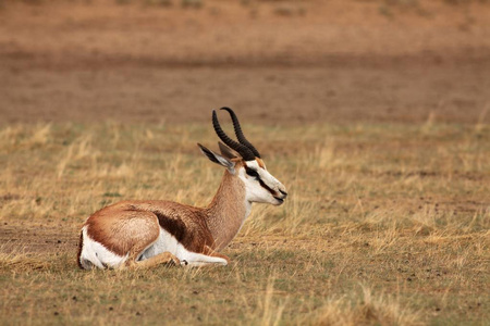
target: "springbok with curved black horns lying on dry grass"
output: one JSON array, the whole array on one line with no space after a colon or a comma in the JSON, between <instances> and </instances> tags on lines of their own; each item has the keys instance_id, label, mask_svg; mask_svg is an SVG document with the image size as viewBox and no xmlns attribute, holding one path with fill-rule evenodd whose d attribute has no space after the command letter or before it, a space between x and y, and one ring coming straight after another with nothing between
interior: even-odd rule
<instances>
[{"instance_id":1,"label":"springbok with curved black horns lying on dry grass","mask_svg":"<svg viewBox=\"0 0 490 326\"><path fill-rule=\"evenodd\" d=\"M245 138L238 118L229 108L238 142L212 125L221 154L197 143L211 161L224 166L218 192L207 208L172 201L121 201L87 218L79 237L78 265L84 269L138 268L158 264L226 265L219 251L230 243L250 213L252 203L280 205L284 186L266 168L257 149Z\"/></svg>"}]
</instances>

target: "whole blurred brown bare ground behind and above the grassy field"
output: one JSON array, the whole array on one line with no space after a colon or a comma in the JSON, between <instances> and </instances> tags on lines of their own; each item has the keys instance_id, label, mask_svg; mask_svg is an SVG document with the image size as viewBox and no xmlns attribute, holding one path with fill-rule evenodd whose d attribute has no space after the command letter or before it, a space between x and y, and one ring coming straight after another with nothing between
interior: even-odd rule
<instances>
[{"instance_id":1,"label":"whole blurred brown bare ground behind and above the grassy field","mask_svg":"<svg viewBox=\"0 0 490 326\"><path fill-rule=\"evenodd\" d=\"M489 122L486 0L0 0L0 121Z\"/></svg>"}]
</instances>

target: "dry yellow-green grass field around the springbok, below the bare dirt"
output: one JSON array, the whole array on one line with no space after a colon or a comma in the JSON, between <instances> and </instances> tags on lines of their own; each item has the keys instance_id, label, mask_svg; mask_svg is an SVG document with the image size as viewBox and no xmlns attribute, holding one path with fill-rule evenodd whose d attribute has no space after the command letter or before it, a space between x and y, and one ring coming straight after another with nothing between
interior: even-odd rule
<instances>
[{"instance_id":1,"label":"dry yellow-green grass field around the springbok, below the bare dirt","mask_svg":"<svg viewBox=\"0 0 490 326\"><path fill-rule=\"evenodd\" d=\"M483 325L490 130L442 125L245 129L289 188L254 208L224 268L83 272L79 225L121 199L204 205L209 125L0 129L2 322ZM260 139L264 136L264 140Z\"/></svg>"}]
</instances>

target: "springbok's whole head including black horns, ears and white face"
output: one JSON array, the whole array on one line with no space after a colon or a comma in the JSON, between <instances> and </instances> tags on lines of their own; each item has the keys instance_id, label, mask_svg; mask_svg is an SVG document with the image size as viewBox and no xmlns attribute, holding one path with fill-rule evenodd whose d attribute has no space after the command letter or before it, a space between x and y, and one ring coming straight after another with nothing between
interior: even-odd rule
<instances>
[{"instance_id":1,"label":"springbok's whole head including black horns, ears and white face","mask_svg":"<svg viewBox=\"0 0 490 326\"><path fill-rule=\"evenodd\" d=\"M228 172L240 178L245 187L245 200L248 202L271 203L280 205L287 197L285 187L267 171L266 164L258 150L245 138L236 114L230 108L221 108L230 113L233 127L238 141L231 139L221 128L216 111L212 111L212 125L218 137L224 142L219 142L218 154L200 143L200 150L211 162L226 167Z\"/></svg>"}]
</instances>

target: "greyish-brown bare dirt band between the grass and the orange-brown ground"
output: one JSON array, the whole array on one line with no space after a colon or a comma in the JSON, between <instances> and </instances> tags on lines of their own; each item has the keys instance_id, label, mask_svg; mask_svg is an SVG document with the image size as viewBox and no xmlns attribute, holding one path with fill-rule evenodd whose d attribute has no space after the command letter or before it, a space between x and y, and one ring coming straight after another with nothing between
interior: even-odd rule
<instances>
[{"instance_id":1,"label":"greyish-brown bare dirt band between the grass and the orange-brown ground","mask_svg":"<svg viewBox=\"0 0 490 326\"><path fill-rule=\"evenodd\" d=\"M206 122L228 105L249 122L490 118L490 65L3 71L3 122ZM47 82L49 80L49 82Z\"/></svg>"}]
</instances>

